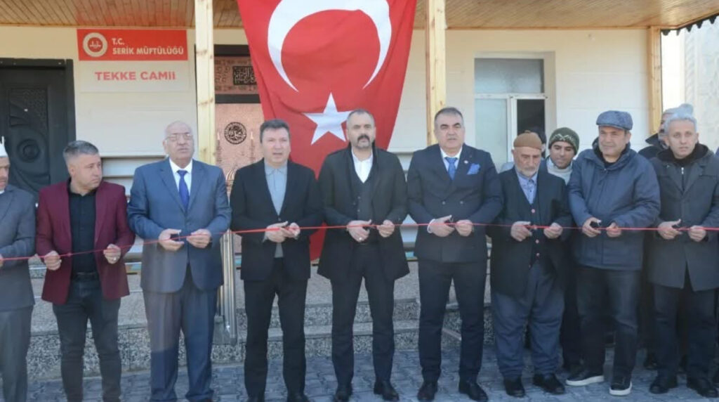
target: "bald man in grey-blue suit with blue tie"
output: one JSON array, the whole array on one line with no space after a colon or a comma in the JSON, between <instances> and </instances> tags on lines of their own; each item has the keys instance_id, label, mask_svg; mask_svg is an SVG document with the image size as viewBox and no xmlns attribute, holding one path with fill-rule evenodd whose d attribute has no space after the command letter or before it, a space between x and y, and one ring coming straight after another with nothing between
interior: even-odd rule
<instances>
[{"instance_id":1,"label":"bald man in grey-blue suit with blue tie","mask_svg":"<svg viewBox=\"0 0 719 402\"><path fill-rule=\"evenodd\" d=\"M162 142L168 159L135 170L127 216L142 248L145 314L150 332L151 401L174 401L180 329L185 338L188 401L211 401L211 350L220 237L230 209L222 170L193 160L191 128L173 122Z\"/></svg>"}]
</instances>

